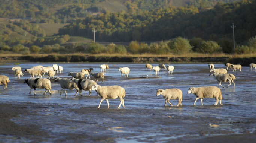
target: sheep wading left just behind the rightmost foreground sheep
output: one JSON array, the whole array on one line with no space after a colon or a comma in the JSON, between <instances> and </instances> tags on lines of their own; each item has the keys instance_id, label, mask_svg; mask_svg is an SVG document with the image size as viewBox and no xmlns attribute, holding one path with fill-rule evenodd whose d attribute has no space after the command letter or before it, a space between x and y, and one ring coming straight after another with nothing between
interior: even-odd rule
<instances>
[{"instance_id":1,"label":"sheep wading left just behind the rightmost foreground sheep","mask_svg":"<svg viewBox=\"0 0 256 143\"><path fill-rule=\"evenodd\" d=\"M217 81L219 82L219 87L222 86L221 82L229 82L228 87L231 85L231 82L233 83L233 88L235 88L235 76L233 74L216 74L216 73L211 73L209 76L214 76ZM222 86L224 88L224 86ZM228 88L227 87L227 88Z\"/></svg>"}]
</instances>

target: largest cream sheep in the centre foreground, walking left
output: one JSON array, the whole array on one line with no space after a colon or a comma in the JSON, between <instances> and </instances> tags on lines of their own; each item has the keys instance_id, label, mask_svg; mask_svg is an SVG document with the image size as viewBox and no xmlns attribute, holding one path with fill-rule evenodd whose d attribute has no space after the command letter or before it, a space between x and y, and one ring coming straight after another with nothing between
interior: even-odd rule
<instances>
[{"instance_id":1,"label":"largest cream sheep in the centre foreground, walking left","mask_svg":"<svg viewBox=\"0 0 256 143\"><path fill-rule=\"evenodd\" d=\"M123 104L124 106L124 97L125 97L125 89L122 88L121 86L100 86L100 85L93 85L91 87L91 90L96 90L97 93L101 96L101 102L106 99L107 101L107 108L109 108L109 101L107 99L116 99L119 97L120 99L120 104L118 106L118 108L121 106L121 104ZM98 106L98 108L100 108L100 105Z\"/></svg>"}]
</instances>

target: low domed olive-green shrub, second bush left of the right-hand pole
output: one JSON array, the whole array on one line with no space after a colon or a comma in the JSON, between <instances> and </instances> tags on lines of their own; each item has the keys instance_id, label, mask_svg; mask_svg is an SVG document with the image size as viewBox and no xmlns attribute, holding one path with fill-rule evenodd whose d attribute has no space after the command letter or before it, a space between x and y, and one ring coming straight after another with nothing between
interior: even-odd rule
<instances>
[{"instance_id":1,"label":"low domed olive-green shrub, second bush left of the right-hand pole","mask_svg":"<svg viewBox=\"0 0 256 143\"><path fill-rule=\"evenodd\" d=\"M199 53L220 53L222 52L221 47L214 41L202 41L201 44L196 49Z\"/></svg>"}]
</instances>

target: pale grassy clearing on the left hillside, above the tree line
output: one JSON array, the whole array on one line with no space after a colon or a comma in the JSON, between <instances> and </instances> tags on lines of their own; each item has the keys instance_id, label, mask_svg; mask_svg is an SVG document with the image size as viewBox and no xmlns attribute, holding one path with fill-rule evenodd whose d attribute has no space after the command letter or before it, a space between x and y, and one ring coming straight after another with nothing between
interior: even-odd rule
<instances>
[{"instance_id":1,"label":"pale grassy clearing on the left hillside, above the tree line","mask_svg":"<svg viewBox=\"0 0 256 143\"><path fill-rule=\"evenodd\" d=\"M56 23L40 23L39 27L45 30L46 36L52 36L58 33L58 30L64 27L66 24L56 24Z\"/></svg>"}]
</instances>

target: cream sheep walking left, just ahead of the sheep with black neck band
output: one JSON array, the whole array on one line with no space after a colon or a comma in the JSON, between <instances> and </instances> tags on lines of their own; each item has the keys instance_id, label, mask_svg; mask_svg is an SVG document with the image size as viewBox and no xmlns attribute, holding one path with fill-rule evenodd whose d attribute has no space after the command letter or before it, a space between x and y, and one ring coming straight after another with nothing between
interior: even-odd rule
<instances>
[{"instance_id":1,"label":"cream sheep walking left, just ahead of the sheep with black neck band","mask_svg":"<svg viewBox=\"0 0 256 143\"><path fill-rule=\"evenodd\" d=\"M70 79L62 79L62 78L60 78L60 77L57 77L57 78L55 78L54 82L60 83L60 86L61 86L61 88L62 88L62 89L61 89L61 92L62 92L63 89L65 89L65 93L66 93L65 96L67 96L66 89L68 89L68 90L76 89L76 94L74 95L74 96L76 96L77 93L78 93L78 91L79 91L79 88L78 88L78 86L76 85L76 83L74 83L74 82L70 83L69 80L70 80ZM60 93L60 95L61 95L61 93Z\"/></svg>"}]
</instances>

